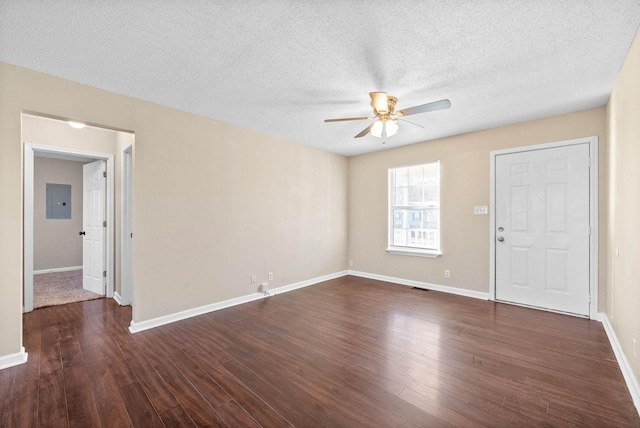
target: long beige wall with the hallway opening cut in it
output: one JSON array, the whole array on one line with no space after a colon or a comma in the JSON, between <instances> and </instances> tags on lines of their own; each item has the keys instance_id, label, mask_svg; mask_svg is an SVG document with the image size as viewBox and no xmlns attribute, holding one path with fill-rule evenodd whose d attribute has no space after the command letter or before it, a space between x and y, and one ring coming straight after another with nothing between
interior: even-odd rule
<instances>
[{"instance_id":1,"label":"long beige wall with the hallway opening cut in it","mask_svg":"<svg viewBox=\"0 0 640 428\"><path fill-rule=\"evenodd\" d=\"M346 158L7 64L0 94L0 356L22 336L22 111L135 132L136 322L346 269Z\"/></svg>"}]
</instances>

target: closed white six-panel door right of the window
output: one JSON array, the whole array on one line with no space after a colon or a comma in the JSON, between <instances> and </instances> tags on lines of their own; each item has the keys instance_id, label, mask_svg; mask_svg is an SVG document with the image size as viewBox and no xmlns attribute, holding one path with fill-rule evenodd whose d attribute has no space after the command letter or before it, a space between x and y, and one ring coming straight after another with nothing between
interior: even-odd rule
<instances>
[{"instance_id":1,"label":"closed white six-panel door right of the window","mask_svg":"<svg viewBox=\"0 0 640 428\"><path fill-rule=\"evenodd\" d=\"M589 315L589 144L496 156L496 299Z\"/></svg>"}]
</instances>

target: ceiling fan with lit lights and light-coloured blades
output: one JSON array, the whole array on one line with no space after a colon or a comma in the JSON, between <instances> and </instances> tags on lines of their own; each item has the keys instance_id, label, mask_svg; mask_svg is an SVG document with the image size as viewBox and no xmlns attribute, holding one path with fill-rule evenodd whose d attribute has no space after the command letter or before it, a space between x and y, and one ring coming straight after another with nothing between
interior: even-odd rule
<instances>
[{"instance_id":1,"label":"ceiling fan with lit lights and light-coloured blades","mask_svg":"<svg viewBox=\"0 0 640 428\"><path fill-rule=\"evenodd\" d=\"M326 119L325 122L344 122L347 120L375 120L375 122L363 129L354 138L364 137L368 133L371 133L371 135L373 135L374 137L384 138L391 137L398 132L399 120L423 128L416 123L402 119L404 116L418 113L427 113L429 111L443 110L451 107L451 101L445 99L434 101L428 104L422 104L415 107L409 107L404 110L394 111L394 109L396 108L396 102L398 102L398 99L396 97L387 95L386 92L369 92L369 96L371 97L373 116Z\"/></svg>"}]
</instances>

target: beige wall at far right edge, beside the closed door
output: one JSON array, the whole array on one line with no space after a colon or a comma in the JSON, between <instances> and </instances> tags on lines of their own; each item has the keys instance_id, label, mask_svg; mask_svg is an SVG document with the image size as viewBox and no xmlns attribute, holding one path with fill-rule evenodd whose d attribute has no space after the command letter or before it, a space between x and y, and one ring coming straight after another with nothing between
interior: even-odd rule
<instances>
[{"instance_id":1,"label":"beige wall at far right edge, beside the closed door","mask_svg":"<svg viewBox=\"0 0 640 428\"><path fill-rule=\"evenodd\" d=\"M609 104L609 240L606 312L640 383L640 33ZM637 344L634 356L633 339Z\"/></svg>"}]
</instances>

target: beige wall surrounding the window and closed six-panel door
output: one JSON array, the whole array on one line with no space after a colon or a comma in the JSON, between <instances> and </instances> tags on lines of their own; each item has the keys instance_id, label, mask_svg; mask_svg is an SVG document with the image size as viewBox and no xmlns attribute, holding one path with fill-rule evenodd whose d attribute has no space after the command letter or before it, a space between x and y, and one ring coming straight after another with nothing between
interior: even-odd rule
<instances>
[{"instance_id":1,"label":"beige wall surrounding the window and closed six-panel door","mask_svg":"<svg viewBox=\"0 0 640 428\"><path fill-rule=\"evenodd\" d=\"M580 137L599 137L599 164L606 166L604 107L349 159L349 259L356 271L478 292L489 292L489 216L473 214L489 205L489 153L493 150ZM387 171L430 161L441 168L441 247L436 259L388 254ZM604 172L600 171L600 192ZM606 213L601 201L599 212ZM600 218L600 244L606 231ZM444 277L444 270L451 278ZM606 263L600 263L606 278ZM604 290L600 295L604 299Z\"/></svg>"}]
</instances>

